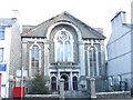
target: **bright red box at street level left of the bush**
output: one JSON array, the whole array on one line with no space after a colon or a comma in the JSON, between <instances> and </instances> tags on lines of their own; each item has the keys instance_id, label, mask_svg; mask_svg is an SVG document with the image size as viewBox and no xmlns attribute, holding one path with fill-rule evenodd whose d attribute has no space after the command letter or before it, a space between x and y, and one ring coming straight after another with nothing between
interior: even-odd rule
<instances>
[{"instance_id":1,"label":"bright red box at street level left of the bush","mask_svg":"<svg viewBox=\"0 0 133 100\"><path fill-rule=\"evenodd\" d=\"M24 87L13 87L13 98L24 98Z\"/></svg>"}]
</instances>

